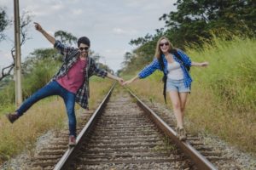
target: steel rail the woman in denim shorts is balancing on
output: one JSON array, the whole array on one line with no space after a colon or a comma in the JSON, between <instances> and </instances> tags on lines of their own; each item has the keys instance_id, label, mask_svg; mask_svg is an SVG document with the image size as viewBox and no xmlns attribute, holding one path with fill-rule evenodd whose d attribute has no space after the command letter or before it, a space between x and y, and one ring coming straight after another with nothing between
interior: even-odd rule
<instances>
[{"instance_id":1,"label":"steel rail the woman in denim shorts is balancing on","mask_svg":"<svg viewBox=\"0 0 256 170\"><path fill-rule=\"evenodd\" d=\"M168 137L170 137L176 144L177 146L183 150L185 155L189 156L189 158L195 162L195 166L198 167L199 169L218 169L210 161L207 160L205 156L202 156L201 153L195 148L189 144L187 141L180 141L177 139L177 133L172 129L172 127L169 127L166 122L164 122L160 116L158 116L154 111L152 111L148 105L145 105L141 99L139 99L135 94L131 92L131 89L126 88L129 93L131 94L132 97L137 99L137 105L139 105L143 111L145 111L148 116L154 121L154 123L157 125L157 127L160 128Z\"/></svg>"}]
</instances>

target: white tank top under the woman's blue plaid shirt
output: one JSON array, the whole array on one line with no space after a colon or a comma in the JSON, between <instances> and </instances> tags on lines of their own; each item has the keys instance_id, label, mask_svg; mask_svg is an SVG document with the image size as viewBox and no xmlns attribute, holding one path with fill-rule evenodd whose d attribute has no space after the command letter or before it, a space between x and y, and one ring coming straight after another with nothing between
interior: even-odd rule
<instances>
[{"instance_id":1,"label":"white tank top under the woman's blue plaid shirt","mask_svg":"<svg viewBox=\"0 0 256 170\"><path fill-rule=\"evenodd\" d=\"M182 80L184 78L183 70L177 61L168 63L167 70L168 70L167 77L172 80Z\"/></svg>"}]
</instances>

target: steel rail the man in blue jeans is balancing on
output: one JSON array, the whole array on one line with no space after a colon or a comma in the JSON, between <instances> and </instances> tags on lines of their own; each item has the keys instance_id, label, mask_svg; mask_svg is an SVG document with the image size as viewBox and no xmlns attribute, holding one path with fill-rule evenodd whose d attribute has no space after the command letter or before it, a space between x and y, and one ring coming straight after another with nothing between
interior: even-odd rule
<instances>
[{"instance_id":1,"label":"steel rail the man in blue jeans is balancing on","mask_svg":"<svg viewBox=\"0 0 256 170\"><path fill-rule=\"evenodd\" d=\"M83 140L88 136L88 133L90 132L91 127L93 127L93 125L95 124L96 117L102 114L102 111L104 110L108 102L108 99L113 91L115 83L113 84L112 88L110 88L110 90L108 91L108 94L106 95L106 97L102 100L102 103L98 106L96 111L90 117L90 120L86 123L82 131L79 133L79 136L77 137L77 145L75 147L68 148L65 154L61 157L61 160L58 161L58 163L56 164L54 170L62 170L62 169L64 170L68 168L68 166L70 165L70 162L73 160L73 157L75 157L76 154L79 152L79 149L82 145Z\"/></svg>"}]
</instances>

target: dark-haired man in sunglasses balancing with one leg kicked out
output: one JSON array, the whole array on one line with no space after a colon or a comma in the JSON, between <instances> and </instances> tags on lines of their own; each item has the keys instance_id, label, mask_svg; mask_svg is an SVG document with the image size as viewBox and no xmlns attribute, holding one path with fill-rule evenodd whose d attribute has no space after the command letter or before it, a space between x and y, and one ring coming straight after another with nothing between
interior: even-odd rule
<instances>
[{"instance_id":1,"label":"dark-haired man in sunglasses balancing with one leg kicked out","mask_svg":"<svg viewBox=\"0 0 256 170\"><path fill-rule=\"evenodd\" d=\"M44 31L42 26L34 23L37 31L41 32L46 39L63 55L64 62L61 69L55 74L51 81L39 89L36 93L20 105L20 108L14 113L7 115L9 122L15 122L38 100L51 95L59 95L64 100L67 109L69 126L69 145L76 144L76 116L74 112L75 102L78 102L84 109L88 108L89 98L89 77L96 75L98 77L109 77L113 80L123 82L122 78L115 77L107 71L97 68L94 59L88 56L90 40L88 37L80 37L78 47L67 47L60 41Z\"/></svg>"}]
</instances>

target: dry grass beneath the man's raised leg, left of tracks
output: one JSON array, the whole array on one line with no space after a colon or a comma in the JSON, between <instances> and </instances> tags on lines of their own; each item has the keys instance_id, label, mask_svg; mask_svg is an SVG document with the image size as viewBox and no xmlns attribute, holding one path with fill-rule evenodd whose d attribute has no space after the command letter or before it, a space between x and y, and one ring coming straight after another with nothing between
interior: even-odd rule
<instances>
[{"instance_id":1,"label":"dry grass beneath the man's raised leg, left of tracks","mask_svg":"<svg viewBox=\"0 0 256 170\"><path fill-rule=\"evenodd\" d=\"M0 116L0 164L22 150L32 151L36 139L50 128L60 128L65 107L59 98L44 99L11 124Z\"/></svg>"}]
</instances>

